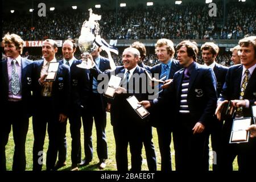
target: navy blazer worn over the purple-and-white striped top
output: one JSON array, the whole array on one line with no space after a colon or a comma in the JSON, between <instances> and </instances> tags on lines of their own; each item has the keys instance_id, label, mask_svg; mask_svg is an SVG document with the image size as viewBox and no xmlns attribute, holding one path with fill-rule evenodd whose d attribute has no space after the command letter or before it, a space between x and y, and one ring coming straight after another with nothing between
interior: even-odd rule
<instances>
[{"instance_id":1,"label":"navy blazer worn over the purple-and-white striped top","mask_svg":"<svg viewBox=\"0 0 256 182\"><path fill-rule=\"evenodd\" d=\"M174 80L164 91L164 96L159 97L156 101L159 104L168 102L174 106L172 109L175 111L176 122L179 122L177 116L179 114L183 75L184 69L176 72ZM208 122L212 121L217 104L216 77L212 68L195 63L189 80L187 101L192 124L201 122L204 126L207 126Z\"/></svg>"}]
</instances>

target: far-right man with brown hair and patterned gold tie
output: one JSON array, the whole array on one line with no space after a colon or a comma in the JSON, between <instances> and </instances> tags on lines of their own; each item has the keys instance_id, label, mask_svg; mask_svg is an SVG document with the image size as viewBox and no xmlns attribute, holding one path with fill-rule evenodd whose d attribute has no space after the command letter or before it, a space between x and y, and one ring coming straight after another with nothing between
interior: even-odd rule
<instances>
[{"instance_id":1,"label":"far-right man with brown hair and patterned gold tie","mask_svg":"<svg viewBox=\"0 0 256 182\"><path fill-rule=\"evenodd\" d=\"M236 106L235 118L226 119L223 128L221 169L232 171L233 160L238 156L238 167L240 171L248 172L256 169L256 139L249 139L249 142L234 143L230 137L240 136L232 130L233 122L237 119L251 117L251 106L256 100L256 36L249 36L239 41L241 64L234 65L228 69L226 81L223 86L222 96L219 99L216 109L218 119L221 119L221 107L231 101ZM233 120L234 119L234 120ZM243 131L246 137L246 131ZM232 135L231 135L232 134ZM238 133L241 134L241 131ZM233 143L230 143L233 142Z\"/></svg>"}]
</instances>

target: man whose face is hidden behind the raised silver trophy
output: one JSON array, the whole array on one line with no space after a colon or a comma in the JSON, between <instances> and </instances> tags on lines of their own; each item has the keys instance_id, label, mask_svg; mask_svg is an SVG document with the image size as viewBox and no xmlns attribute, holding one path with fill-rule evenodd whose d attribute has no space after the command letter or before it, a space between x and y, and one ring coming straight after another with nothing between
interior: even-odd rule
<instances>
[{"instance_id":1,"label":"man whose face is hidden behind the raised silver trophy","mask_svg":"<svg viewBox=\"0 0 256 182\"><path fill-rule=\"evenodd\" d=\"M111 69L109 59L100 55L101 48L97 47L90 55L100 71L104 72ZM108 159L108 145L106 142L106 107L107 100L98 93L98 80L93 77L92 73L89 74L89 93L88 100L82 110L82 125L84 126L84 152L85 159L82 160L80 166L88 165L93 159L93 146L92 146L92 127L93 119L95 122L97 133L97 154L99 167L101 169L106 167L105 160Z\"/></svg>"}]
</instances>

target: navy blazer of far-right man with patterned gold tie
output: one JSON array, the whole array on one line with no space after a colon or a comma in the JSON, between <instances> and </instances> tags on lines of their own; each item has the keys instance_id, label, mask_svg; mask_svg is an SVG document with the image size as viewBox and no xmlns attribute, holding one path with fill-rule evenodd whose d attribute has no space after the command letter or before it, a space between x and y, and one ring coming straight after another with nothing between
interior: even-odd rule
<instances>
[{"instance_id":1,"label":"navy blazer of far-right man with patterned gold tie","mask_svg":"<svg viewBox=\"0 0 256 182\"><path fill-rule=\"evenodd\" d=\"M223 86L220 101L239 100L241 92L242 71L243 65L241 64L233 65L228 69L226 82ZM250 77L243 99L249 100L250 107L254 105L254 102L256 101L256 69L254 69L253 74ZM251 117L252 113L250 107L243 108L242 111L244 117Z\"/></svg>"}]
</instances>

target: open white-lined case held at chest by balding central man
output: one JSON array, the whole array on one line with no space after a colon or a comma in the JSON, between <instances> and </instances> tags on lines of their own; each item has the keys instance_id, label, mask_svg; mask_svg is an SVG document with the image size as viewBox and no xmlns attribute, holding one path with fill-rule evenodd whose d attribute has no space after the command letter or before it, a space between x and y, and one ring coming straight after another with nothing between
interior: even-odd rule
<instances>
[{"instance_id":1,"label":"open white-lined case held at chest by balding central man","mask_svg":"<svg viewBox=\"0 0 256 182\"><path fill-rule=\"evenodd\" d=\"M115 89L118 88L118 86L119 86L120 83L121 83L121 80L122 80L121 77L112 75L112 76L110 77L108 86L107 86L106 89L104 90L103 95L104 95L105 97L108 97L108 98L112 98L112 99L113 99L113 98L115 97Z\"/></svg>"}]
</instances>

